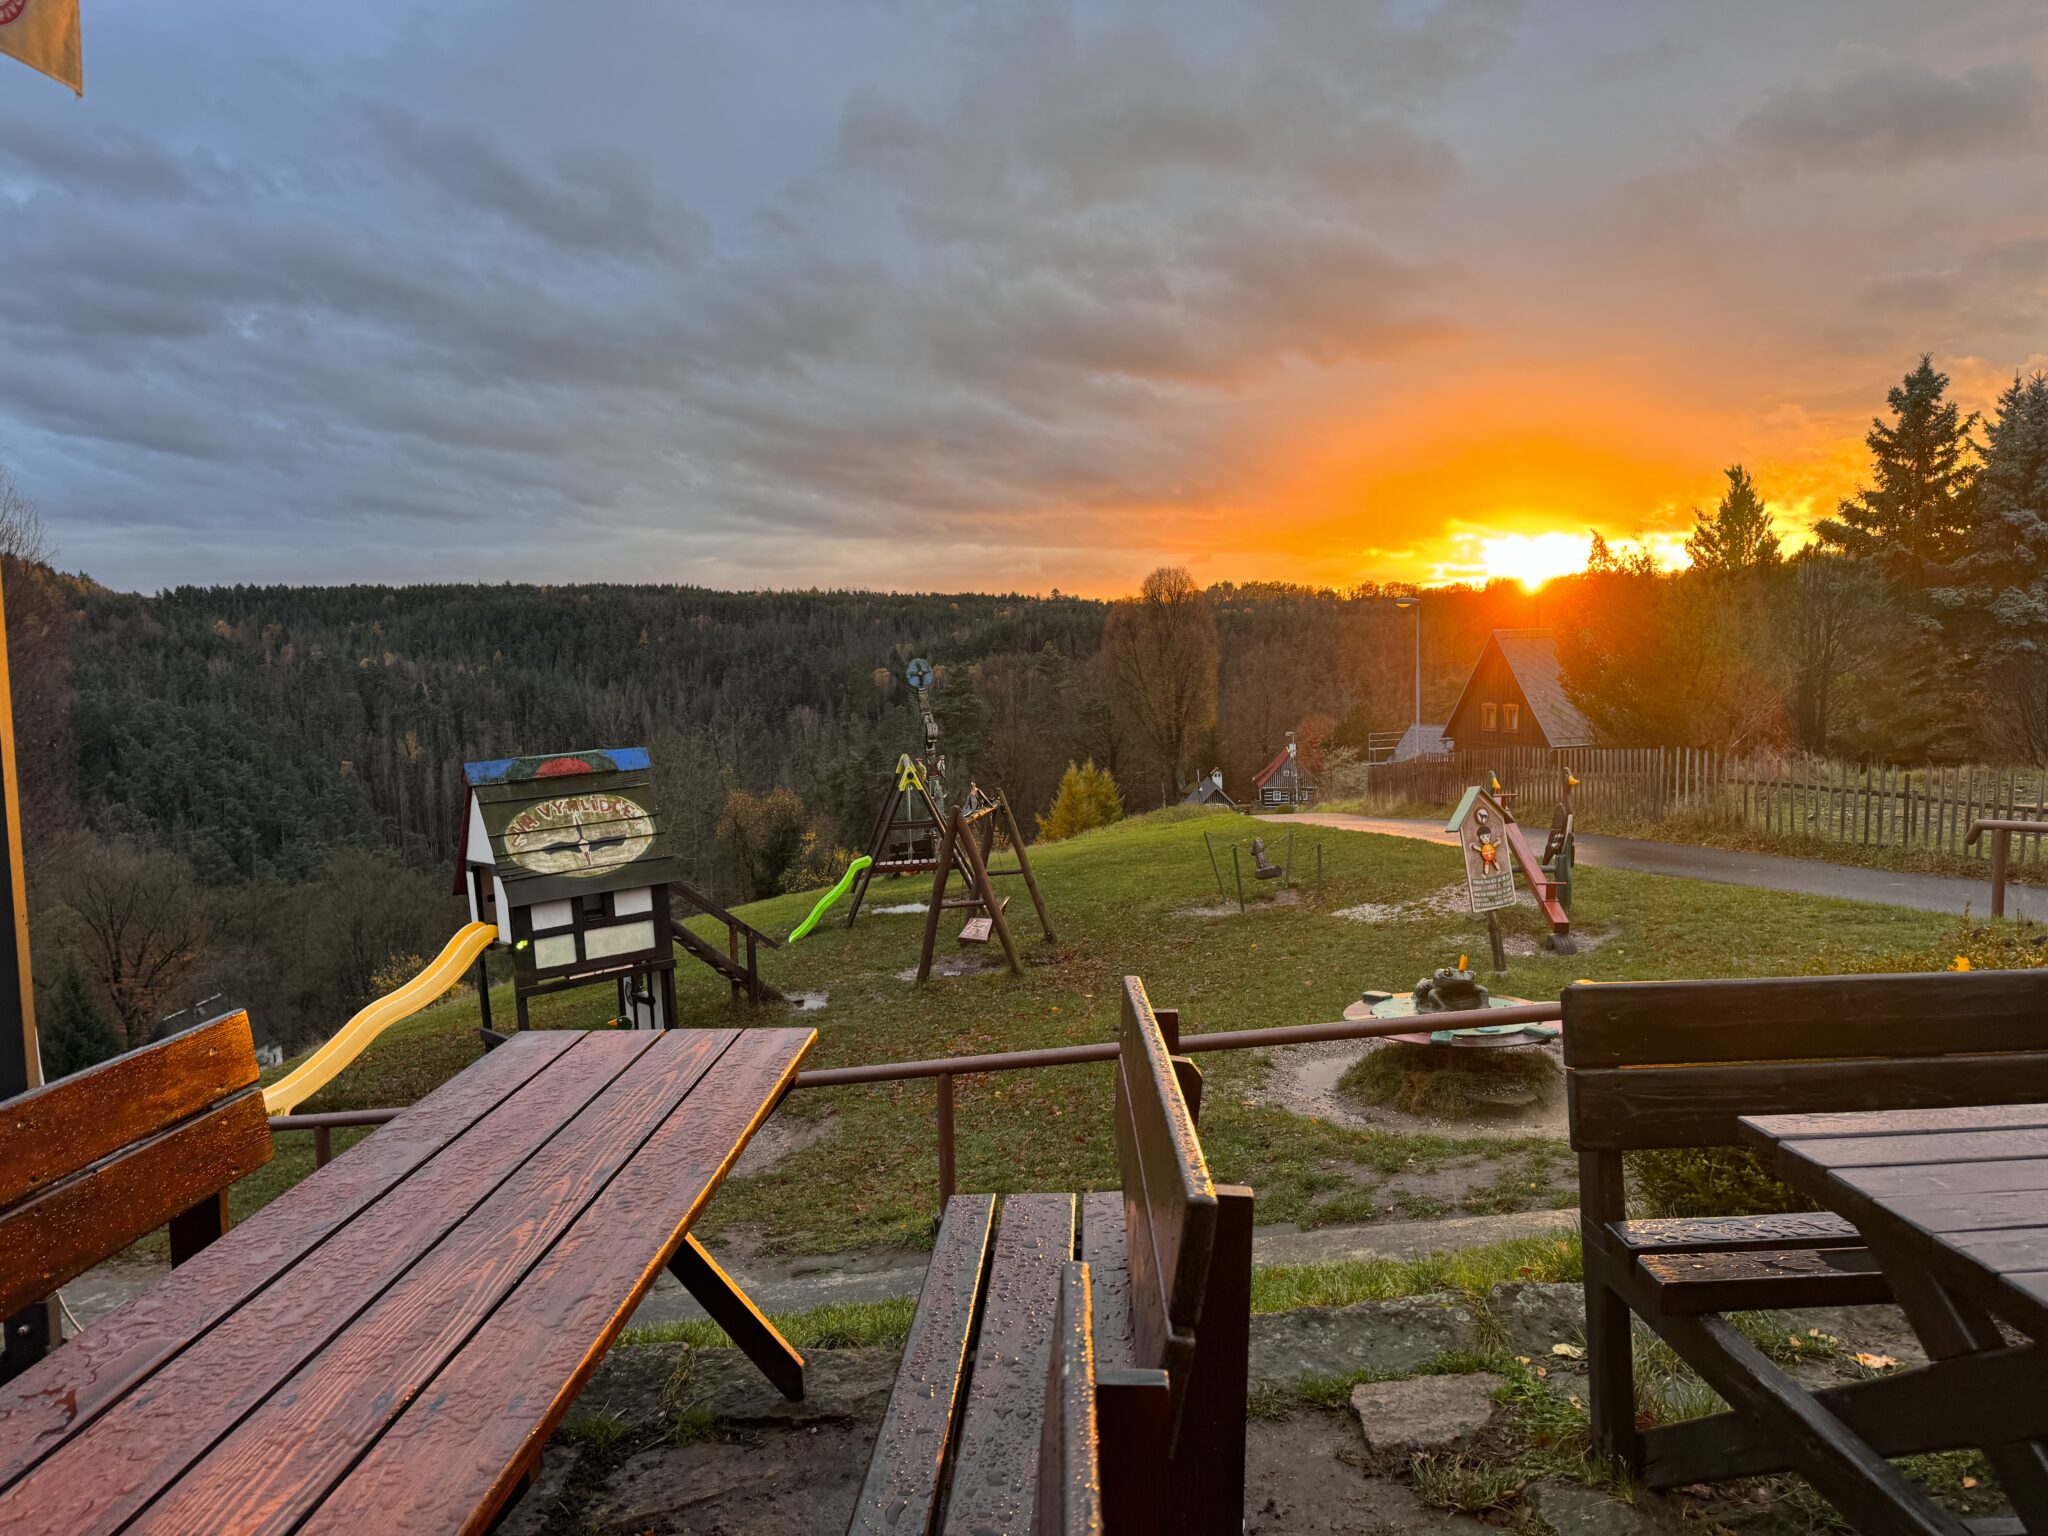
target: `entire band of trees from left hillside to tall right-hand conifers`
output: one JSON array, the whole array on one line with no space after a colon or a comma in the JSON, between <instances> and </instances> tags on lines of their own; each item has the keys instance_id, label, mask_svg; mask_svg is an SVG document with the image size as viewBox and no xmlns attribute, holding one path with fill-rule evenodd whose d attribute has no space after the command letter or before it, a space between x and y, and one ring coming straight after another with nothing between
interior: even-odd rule
<instances>
[{"instance_id":1,"label":"entire band of trees from left hillside to tall right-hand conifers","mask_svg":"<svg viewBox=\"0 0 2048 1536\"><path fill-rule=\"evenodd\" d=\"M1296 733L1339 793L1374 731L1440 723L1489 631L1556 631L1622 745L2048 764L2048 377L1989 420L1929 360L1872 420L1866 483L1784 551L1743 465L1690 565L1591 537L1587 569L1348 592L1196 586L1116 602L688 586L233 586L63 573L0 469L35 981L45 1040L96 1059L186 1010L285 1042L336 1028L459 915L461 764L647 745L698 883L823 883L922 731L1024 825L1073 764L1092 815L1208 768L1233 793ZM1417 629L1419 625L1419 629ZM1106 774L1106 778L1104 778ZM1083 784L1085 778L1085 784ZM1049 829L1081 825L1075 805ZM51 1024L55 1022L55 1028Z\"/></svg>"}]
</instances>

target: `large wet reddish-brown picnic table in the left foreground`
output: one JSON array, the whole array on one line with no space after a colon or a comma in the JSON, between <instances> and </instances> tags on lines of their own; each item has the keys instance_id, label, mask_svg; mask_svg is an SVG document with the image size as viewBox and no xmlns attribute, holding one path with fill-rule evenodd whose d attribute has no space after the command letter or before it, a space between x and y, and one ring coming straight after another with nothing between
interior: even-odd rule
<instances>
[{"instance_id":1,"label":"large wet reddish-brown picnic table in the left foreground","mask_svg":"<svg viewBox=\"0 0 2048 1536\"><path fill-rule=\"evenodd\" d=\"M801 1397L688 1233L813 1040L506 1040L0 1386L0 1530L487 1530L664 1266Z\"/></svg>"}]
</instances>

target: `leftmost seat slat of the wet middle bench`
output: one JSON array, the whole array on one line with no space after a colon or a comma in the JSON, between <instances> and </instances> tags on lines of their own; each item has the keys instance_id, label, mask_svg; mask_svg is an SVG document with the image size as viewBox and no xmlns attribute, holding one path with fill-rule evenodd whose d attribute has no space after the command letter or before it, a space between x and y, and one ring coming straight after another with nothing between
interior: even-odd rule
<instances>
[{"instance_id":1,"label":"leftmost seat slat of the wet middle bench","mask_svg":"<svg viewBox=\"0 0 2048 1536\"><path fill-rule=\"evenodd\" d=\"M956 1194L946 1202L848 1536L901 1536L932 1528L993 1229L993 1194Z\"/></svg>"}]
</instances>

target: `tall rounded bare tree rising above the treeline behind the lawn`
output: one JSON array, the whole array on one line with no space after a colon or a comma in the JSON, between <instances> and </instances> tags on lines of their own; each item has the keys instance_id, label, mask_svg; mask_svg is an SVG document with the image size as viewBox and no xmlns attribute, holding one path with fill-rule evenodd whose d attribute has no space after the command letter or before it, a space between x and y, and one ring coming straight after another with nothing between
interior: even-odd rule
<instances>
[{"instance_id":1,"label":"tall rounded bare tree rising above the treeline behind the lawn","mask_svg":"<svg viewBox=\"0 0 2048 1536\"><path fill-rule=\"evenodd\" d=\"M1188 750L1217 721L1217 614L1178 565L1145 578L1137 598L1110 608L1102 631L1118 702L1159 752L1178 791Z\"/></svg>"}]
</instances>

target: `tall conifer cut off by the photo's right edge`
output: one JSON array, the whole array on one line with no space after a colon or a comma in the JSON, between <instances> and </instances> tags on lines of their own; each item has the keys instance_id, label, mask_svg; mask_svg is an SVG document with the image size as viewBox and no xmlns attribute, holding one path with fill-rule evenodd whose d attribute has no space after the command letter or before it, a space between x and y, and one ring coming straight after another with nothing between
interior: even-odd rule
<instances>
[{"instance_id":1,"label":"tall conifer cut off by the photo's right edge","mask_svg":"<svg viewBox=\"0 0 2048 1536\"><path fill-rule=\"evenodd\" d=\"M1978 524L1929 592L1968 649L2005 745L2048 762L2048 373L2015 377L1985 430Z\"/></svg>"}]
</instances>

